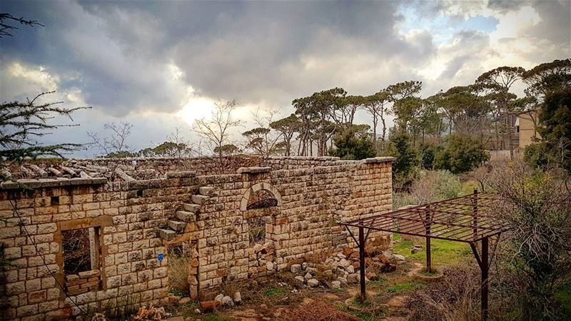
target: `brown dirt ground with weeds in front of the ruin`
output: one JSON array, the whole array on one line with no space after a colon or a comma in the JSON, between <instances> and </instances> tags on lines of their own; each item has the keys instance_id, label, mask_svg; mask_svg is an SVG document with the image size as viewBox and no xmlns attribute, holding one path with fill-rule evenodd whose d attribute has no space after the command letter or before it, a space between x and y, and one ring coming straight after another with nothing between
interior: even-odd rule
<instances>
[{"instance_id":1,"label":"brown dirt ground with weeds in front of the ruin","mask_svg":"<svg viewBox=\"0 0 571 321\"><path fill-rule=\"evenodd\" d=\"M257 284L234 283L222 287L218 292L232 295L239 290L243 301L234 307L222 307L213 312L198 313L198 302L173 305L167 310L172 313L171 321L189 320L408 320L408 311L403 307L410 292L427 286L417 280L414 272L420 270L420 260L409 260L399 265L394 272L383 273L377 280L367 284L367 301L359 302L358 284L350 284L340 290L333 290L321 282L318 287L296 287L293 275L282 273L268 282ZM224 292L226 290L226 292ZM205 295L212 299L216 294ZM318 307L318 308L316 308ZM340 313L340 317L328 317Z\"/></svg>"}]
</instances>

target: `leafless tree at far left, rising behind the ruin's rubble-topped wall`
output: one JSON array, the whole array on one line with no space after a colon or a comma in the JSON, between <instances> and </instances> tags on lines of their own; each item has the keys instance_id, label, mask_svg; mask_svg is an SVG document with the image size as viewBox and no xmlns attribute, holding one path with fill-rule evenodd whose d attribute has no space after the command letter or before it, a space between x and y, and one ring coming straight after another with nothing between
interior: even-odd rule
<instances>
[{"instance_id":1,"label":"leafless tree at far left, rising behind the ruin's rubble-topped wall","mask_svg":"<svg viewBox=\"0 0 571 321\"><path fill-rule=\"evenodd\" d=\"M130 146L127 144L127 138L131 135L133 124L126 121L121 123L106 123L103 128L108 131L108 136L100 138L98 133L88 132L87 135L93 141L93 145L97 146L106 157L131 157L133 153L129 151Z\"/></svg>"}]
</instances>

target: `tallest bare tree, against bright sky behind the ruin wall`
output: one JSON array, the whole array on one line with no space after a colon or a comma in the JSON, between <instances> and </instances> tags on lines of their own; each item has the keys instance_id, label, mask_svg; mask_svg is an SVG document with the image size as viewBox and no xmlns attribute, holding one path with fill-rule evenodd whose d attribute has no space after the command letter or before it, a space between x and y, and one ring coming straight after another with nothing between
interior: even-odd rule
<instances>
[{"instance_id":1,"label":"tallest bare tree, against bright sky behind the ruin wall","mask_svg":"<svg viewBox=\"0 0 571 321\"><path fill-rule=\"evenodd\" d=\"M194 121L191 130L200 136L206 147L222 160L223 146L231 145L231 128L241 126L242 122L234 119L232 112L236 109L236 101L215 103L210 118L201 118Z\"/></svg>"}]
</instances>

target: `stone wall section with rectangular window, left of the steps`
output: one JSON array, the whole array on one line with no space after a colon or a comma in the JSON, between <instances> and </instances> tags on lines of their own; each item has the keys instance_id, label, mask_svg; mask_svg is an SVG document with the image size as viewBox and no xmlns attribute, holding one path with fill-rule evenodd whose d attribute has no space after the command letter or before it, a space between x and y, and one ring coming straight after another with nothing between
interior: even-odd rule
<instances>
[{"instance_id":1,"label":"stone wall section with rectangular window, left of the steps","mask_svg":"<svg viewBox=\"0 0 571 321\"><path fill-rule=\"evenodd\" d=\"M1 271L4 317L55 320L79 315L73 302L84 312L115 307L121 312L134 302L166 303L167 261L157 259L166 249L156 228L196 193L195 183L191 177L54 187L44 180L34 190L1 190L0 244L11 262ZM73 292L69 287L76 283L66 284L64 278L61 231L76 228L100 231L101 286L66 297L60 285Z\"/></svg>"}]
</instances>

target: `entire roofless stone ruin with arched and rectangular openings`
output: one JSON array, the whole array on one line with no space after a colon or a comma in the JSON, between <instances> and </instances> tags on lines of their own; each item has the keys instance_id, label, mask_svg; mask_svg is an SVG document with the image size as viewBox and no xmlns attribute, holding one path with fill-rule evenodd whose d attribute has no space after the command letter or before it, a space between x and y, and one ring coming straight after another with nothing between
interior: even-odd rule
<instances>
[{"instance_id":1,"label":"entire roofless stone ruin with arched and rectangular openings","mask_svg":"<svg viewBox=\"0 0 571 321\"><path fill-rule=\"evenodd\" d=\"M354 248L338 222L392 209L393 159L102 158L12 168L0 185L0 254L9 262L0 267L2 318L165 305L176 252L168 249L190 259L196 298L227 280L263 279L307 255ZM265 235L254 243L260 222Z\"/></svg>"}]
</instances>

